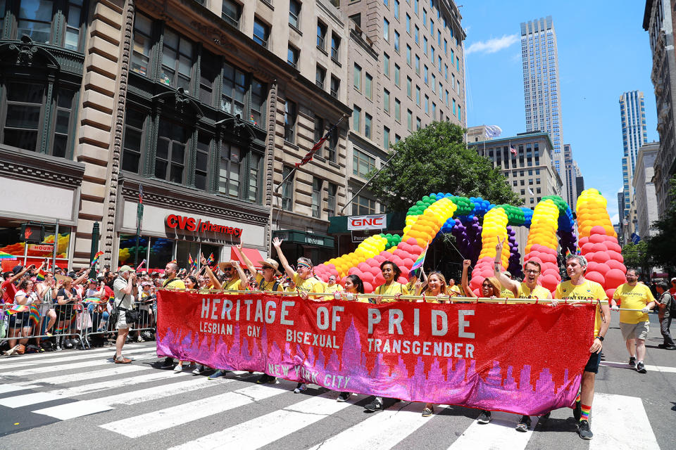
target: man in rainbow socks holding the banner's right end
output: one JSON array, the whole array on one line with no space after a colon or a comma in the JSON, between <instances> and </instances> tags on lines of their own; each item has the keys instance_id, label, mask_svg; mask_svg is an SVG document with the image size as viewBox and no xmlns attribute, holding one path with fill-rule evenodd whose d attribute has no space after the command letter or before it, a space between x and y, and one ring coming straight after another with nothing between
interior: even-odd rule
<instances>
[{"instance_id":1,"label":"man in rainbow socks holding the banner's right end","mask_svg":"<svg viewBox=\"0 0 676 450\"><path fill-rule=\"evenodd\" d=\"M568 300L608 300L603 286L596 281L584 278L584 272L587 271L587 259L582 255L568 255L565 257L565 271L570 280L563 281L556 286L554 293L555 299ZM558 302L551 302L553 307ZM594 437L592 429L589 428L589 412L592 410L592 400L594 400L594 381L596 373L599 373L599 362L601 361L601 350L603 349L603 340L608 332L608 326L611 324L611 309L608 304L596 303L596 317L594 319L594 334L584 337L585 340L592 338L592 346L589 347L589 361L584 367L582 373L582 387L580 389L579 399L575 399L575 410L573 415L577 420L577 434L582 439L589 440Z\"/></svg>"}]
</instances>

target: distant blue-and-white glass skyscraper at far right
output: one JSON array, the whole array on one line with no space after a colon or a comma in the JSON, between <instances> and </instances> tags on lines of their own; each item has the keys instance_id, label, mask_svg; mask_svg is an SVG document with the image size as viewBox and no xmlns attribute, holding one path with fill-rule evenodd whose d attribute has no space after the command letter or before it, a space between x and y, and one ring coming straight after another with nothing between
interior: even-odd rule
<instances>
[{"instance_id":1,"label":"distant blue-and-white glass skyscraper at far right","mask_svg":"<svg viewBox=\"0 0 676 450\"><path fill-rule=\"evenodd\" d=\"M634 200L634 170L639 148L648 141L646 132L646 107L643 92L629 91L620 97L620 117L622 119L622 192L625 205L620 210L620 219L630 214Z\"/></svg>"}]
</instances>

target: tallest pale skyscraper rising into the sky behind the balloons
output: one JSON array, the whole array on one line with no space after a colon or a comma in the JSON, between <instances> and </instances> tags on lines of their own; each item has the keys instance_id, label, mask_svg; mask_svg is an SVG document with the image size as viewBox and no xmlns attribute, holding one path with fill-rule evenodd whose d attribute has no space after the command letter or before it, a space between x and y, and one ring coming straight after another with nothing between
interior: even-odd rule
<instances>
[{"instance_id":1,"label":"tallest pale skyscraper rising into the sky behind the balloons","mask_svg":"<svg viewBox=\"0 0 676 450\"><path fill-rule=\"evenodd\" d=\"M563 127L559 98L558 50L551 15L521 23L521 59L526 131L546 131L553 144L553 165L563 181L561 195L568 192L561 151Z\"/></svg>"}]
</instances>

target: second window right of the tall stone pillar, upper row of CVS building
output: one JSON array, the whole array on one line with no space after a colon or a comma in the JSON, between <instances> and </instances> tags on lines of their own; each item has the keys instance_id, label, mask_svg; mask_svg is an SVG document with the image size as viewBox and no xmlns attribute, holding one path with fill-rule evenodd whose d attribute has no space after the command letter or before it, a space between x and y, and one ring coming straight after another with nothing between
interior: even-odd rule
<instances>
[{"instance_id":1,"label":"second window right of the tall stone pillar, upper row of CVS building","mask_svg":"<svg viewBox=\"0 0 676 450\"><path fill-rule=\"evenodd\" d=\"M194 45L170 29L165 29L160 82L172 87L190 88Z\"/></svg>"}]
</instances>

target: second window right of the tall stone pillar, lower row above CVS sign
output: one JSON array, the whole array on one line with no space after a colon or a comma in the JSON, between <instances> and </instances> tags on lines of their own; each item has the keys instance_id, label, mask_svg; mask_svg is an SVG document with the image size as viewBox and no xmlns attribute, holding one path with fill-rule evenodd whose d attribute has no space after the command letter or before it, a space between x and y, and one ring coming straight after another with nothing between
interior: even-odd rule
<instances>
[{"instance_id":1,"label":"second window right of the tall stone pillar, lower row above CVS sign","mask_svg":"<svg viewBox=\"0 0 676 450\"><path fill-rule=\"evenodd\" d=\"M155 177L172 183L184 183L187 129L180 124L160 119L155 155Z\"/></svg>"}]
</instances>

